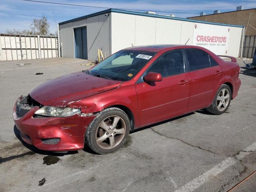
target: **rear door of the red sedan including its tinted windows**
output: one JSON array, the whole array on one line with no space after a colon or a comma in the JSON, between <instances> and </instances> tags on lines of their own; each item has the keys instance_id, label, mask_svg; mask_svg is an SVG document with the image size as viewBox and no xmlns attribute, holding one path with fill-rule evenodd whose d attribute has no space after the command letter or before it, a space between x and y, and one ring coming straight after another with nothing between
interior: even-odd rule
<instances>
[{"instance_id":1,"label":"rear door of the red sedan including its tinted windows","mask_svg":"<svg viewBox=\"0 0 256 192\"><path fill-rule=\"evenodd\" d=\"M223 76L223 69L206 52L186 49L190 96L188 110L198 110L210 106Z\"/></svg>"}]
</instances>

